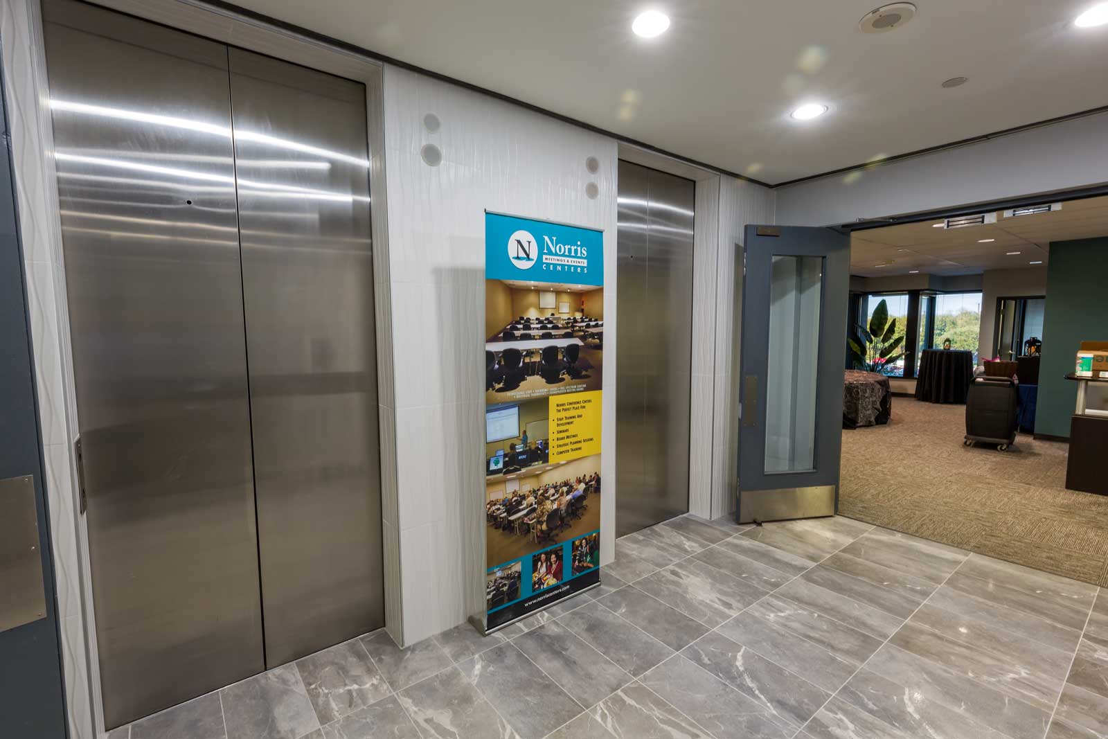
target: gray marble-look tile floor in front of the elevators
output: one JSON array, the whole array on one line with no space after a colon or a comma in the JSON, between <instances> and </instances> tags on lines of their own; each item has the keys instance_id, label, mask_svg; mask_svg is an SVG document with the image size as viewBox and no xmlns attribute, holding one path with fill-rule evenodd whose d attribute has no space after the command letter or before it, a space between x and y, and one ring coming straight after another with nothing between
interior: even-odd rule
<instances>
[{"instance_id":1,"label":"gray marble-look tile floor in front of the elevators","mask_svg":"<svg viewBox=\"0 0 1108 739\"><path fill-rule=\"evenodd\" d=\"M681 516L481 637L383 630L110 739L1108 738L1108 592L843 517Z\"/></svg>"}]
</instances>

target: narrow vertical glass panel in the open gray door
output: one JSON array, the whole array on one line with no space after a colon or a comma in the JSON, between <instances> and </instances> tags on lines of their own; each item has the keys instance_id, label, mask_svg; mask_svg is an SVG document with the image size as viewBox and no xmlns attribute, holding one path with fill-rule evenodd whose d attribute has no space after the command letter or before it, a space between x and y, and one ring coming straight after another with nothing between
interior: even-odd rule
<instances>
[{"instance_id":1,"label":"narrow vertical glass panel in the open gray door","mask_svg":"<svg viewBox=\"0 0 1108 739\"><path fill-rule=\"evenodd\" d=\"M766 378L767 473L799 472L814 465L822 278L822 257L773 256Z\"/></svg>"}]
</instances>

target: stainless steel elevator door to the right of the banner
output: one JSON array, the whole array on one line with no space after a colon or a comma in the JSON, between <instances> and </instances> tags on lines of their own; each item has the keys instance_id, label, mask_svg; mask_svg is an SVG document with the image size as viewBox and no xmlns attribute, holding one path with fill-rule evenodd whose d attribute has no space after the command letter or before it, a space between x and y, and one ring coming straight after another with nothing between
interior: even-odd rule
<instances>
[{"instance_id":1,"label":"stainless steel elevator door to the right of the banner","mask_svg":"<svg viewBox=\"0 0 1108 739\"><path fill-rule=\"evenodd\" d=\"M616 534L688 512L696 184L619 162Z\"/></svg>"}]
</instances>

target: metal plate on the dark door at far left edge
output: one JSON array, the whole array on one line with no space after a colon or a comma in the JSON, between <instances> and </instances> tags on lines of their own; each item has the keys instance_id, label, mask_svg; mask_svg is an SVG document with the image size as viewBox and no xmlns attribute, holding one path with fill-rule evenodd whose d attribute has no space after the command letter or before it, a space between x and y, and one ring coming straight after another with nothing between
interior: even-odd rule
<instances>
[{"instance_id":1,"label":"metal plate on the dark door at far left edge","mask_svg":"<svg viewBox=\"0 0 1108 739\"><path fill-rule=\"evenodd\" d=\"M45 616L34 478L0 480L0 632Z\"/></svg>"}]
</instances>

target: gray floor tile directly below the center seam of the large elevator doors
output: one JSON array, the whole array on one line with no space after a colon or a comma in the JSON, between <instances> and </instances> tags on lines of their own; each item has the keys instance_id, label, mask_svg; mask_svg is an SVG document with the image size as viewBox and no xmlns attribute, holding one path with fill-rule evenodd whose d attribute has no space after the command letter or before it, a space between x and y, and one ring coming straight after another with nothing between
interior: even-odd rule
<instances>
[{"instance_id":1,"label":"gray floor tile directly below the center seam of the large elevator doors","mask_svg":"<svg viewBox=\"0 0 1108 739\"><path fill-rule=\"evenodd\" d=\"M299 739L319 728L296 665L281 665L219 691L227 736Z\"/></svg>"}]
</instances>

